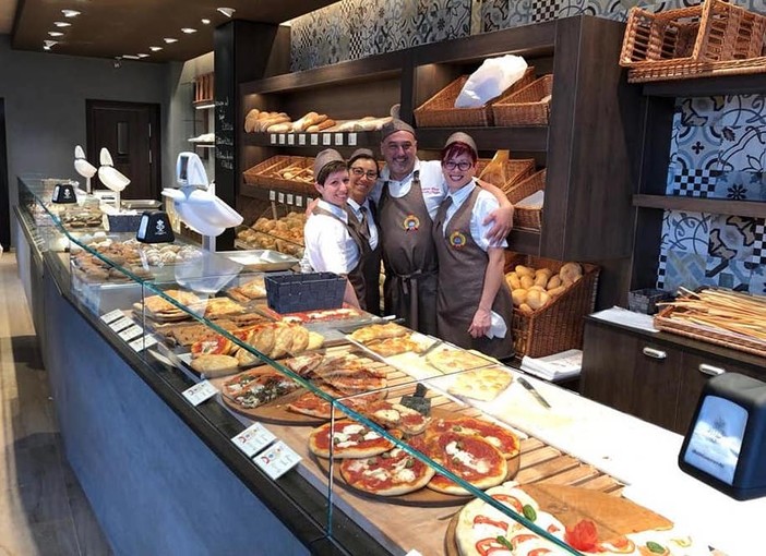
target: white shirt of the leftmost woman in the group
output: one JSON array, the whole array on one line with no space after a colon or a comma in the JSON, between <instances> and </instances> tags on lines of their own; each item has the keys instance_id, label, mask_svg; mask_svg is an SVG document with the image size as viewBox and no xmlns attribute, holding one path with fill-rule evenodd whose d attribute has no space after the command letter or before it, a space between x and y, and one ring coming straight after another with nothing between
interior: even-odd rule
<instances>
[{"instance_id":1,"label":"white shirt of the leftmost woman in the group","mask_svg":"<svg viewBox=\"0 0 766 556\"><path fill-rule=\"evenodd\" d=\"M311 215L303 228L306 252L303 258L319 273L347 275L359 263L359 247L348 233L346 211L320 200L318 206L337 216Z\"/></svg>"}]
</instances>

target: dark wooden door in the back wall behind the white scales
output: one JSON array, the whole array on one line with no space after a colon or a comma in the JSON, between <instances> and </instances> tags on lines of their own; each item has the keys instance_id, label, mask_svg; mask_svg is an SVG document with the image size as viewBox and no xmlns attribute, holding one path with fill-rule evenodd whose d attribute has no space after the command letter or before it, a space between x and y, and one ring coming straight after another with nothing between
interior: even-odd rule
<instances>
[{"instance_id":1,"label":"dark wooden door in the back wall behind the white scales","mask_svg":"<svg viewBox=\"0 0 766 556\"><path fill-rule=\"evenodd\" d=\"M87 100L87 159L99 164L109 149L115 168L131 183L122 198L159 198L159 105ZM98 174L93 186L104 189Z\"/></svg>"}]
</instances>

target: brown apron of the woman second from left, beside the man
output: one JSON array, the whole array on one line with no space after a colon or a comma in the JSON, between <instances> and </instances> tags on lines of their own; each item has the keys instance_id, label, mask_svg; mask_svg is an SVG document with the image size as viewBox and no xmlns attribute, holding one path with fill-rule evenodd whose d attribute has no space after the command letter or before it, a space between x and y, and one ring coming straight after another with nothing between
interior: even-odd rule
<instances>
[{"instance_id":1,"label":"brown apron of the woman second from left, beside the man","mask_svg":"<svg viewBox=\"0 0 766 556\"><path fill-rule=\"evenodd\" d=\"M372 202L368 203L369 209L362 206L362 210L368 210L367 219L374 218ZM359 306L373 315L381 314L381 239L378 237L378 245L370 249L370 228L367 222L359 221L354 209L346 205L348 215L348 232L359 246L359 264L348 273L348 279L357 293Z\"/></svg>"}]
</instances>

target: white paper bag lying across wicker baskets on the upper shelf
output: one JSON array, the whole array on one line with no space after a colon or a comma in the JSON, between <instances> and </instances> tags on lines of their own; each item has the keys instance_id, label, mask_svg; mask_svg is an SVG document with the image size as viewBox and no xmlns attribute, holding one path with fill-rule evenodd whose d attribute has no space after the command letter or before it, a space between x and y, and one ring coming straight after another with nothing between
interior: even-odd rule
<instances>
[{"instance_id":1,"label":"white paper bag lying across wicker baskets on the upper shelf","mask_svg":"<svg viewBox=\"0 0 766 556\"><path fill-rule=\"evenodd\" d=\"M520 56L488 58L470 74L455 99L455 108L478 108L522 78L527 62Z\"/></svg>"}]
</instances>

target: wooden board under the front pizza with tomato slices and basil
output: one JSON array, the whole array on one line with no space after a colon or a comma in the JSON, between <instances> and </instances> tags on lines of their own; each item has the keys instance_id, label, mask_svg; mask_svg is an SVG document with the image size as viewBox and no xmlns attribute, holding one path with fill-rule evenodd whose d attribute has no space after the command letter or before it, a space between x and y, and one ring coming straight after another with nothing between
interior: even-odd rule
<instances>
[{"instance_id":1,"label":"wooden board under the front pizza with tomato slices and basil","mask_svg":"<svg viewBox=\"0 0 766 556\"><path fill-rule=\"evenodd\" d=\"M669 519L622 496L556 484L525 484L522 489L537 500L541 510L551 513L565 527L589 519L596 524L600 541L673 525ZM458 516L459 511L452 517L444 536L447 556L459 556L455 542Z\"/></svg>"}]
</instances>

